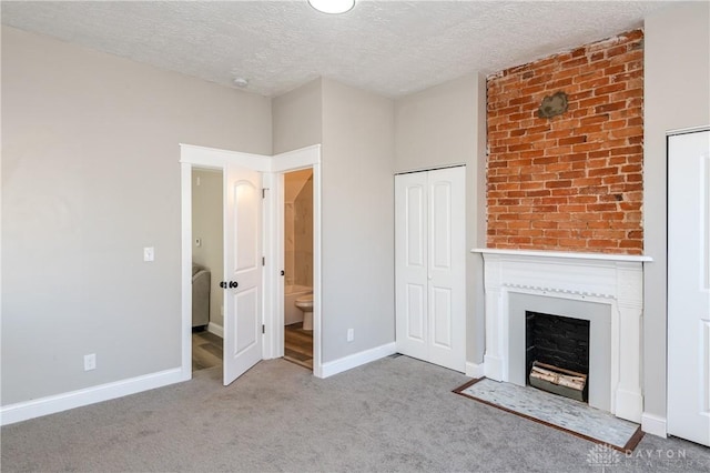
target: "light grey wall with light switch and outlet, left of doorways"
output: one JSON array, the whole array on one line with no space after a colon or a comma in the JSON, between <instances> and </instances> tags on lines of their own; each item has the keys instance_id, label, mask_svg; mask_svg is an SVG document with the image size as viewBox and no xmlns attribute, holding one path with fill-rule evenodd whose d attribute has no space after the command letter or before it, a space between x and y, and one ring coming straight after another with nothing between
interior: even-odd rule
<instances>
[{"instance_id":1,"label":"light grey wall with light switch and outlet, left of doorways","mask_svg":"<svg viewBox=\"0 0 710 473\"><path fill-rule=\"evenodd\" d=\"M271 154L270 100L2 27L2 405L180 366L181 142Z\"/></svg>"}]
</instances>

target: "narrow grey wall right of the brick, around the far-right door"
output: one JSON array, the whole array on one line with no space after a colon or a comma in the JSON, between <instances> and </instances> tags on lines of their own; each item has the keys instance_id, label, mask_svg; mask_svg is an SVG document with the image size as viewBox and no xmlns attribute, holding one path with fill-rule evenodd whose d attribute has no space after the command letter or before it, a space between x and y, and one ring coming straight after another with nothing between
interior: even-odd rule
<instances>
[{"instance_id":1,"label":"narrow grey wall right of the brick, around the far-right door","mask_svg":"<svg viewBox=\"0 0 710 473\"><path fill-rule=\"evenodd\" d=\"M686 2L645 24L645 412L666 419L666 133L710 125L710 3ZM672 165L672 163L671 163Z\"/></svg>"}]
</instances>

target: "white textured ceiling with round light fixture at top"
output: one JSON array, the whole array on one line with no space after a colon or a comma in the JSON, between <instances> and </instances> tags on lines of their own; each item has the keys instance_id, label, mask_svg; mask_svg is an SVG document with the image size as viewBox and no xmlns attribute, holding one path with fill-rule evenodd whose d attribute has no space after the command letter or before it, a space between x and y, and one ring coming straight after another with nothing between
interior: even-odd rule
<instances>
[{"instance_id":1,"label":"white textured ceiling with round light fixture at top","mask_svg":"<svg viewBox=\"0 0 710 473\"><path fill-rule=\"evenodd\" d=\"M320 76L400 97L642 26L671 2L1 2L2 23L229 87L278 95Z\"/></svg>"}]
</instances>

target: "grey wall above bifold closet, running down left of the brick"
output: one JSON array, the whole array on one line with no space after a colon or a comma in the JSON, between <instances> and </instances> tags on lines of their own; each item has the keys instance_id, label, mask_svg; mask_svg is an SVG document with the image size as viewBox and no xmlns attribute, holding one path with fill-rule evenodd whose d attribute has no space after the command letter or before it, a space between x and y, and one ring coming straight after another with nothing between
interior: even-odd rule
<instances>
[{"instance_id":1,"label":"grey wall above bifold closet, running down left of the brick","mask_svg":"<svg viewBox=\"0 0 710 473\"><path fill-rule=\"evenodd\" d=\"M470 74L395 102L397 172L466 164L466 360L483 362L486 241L486 78Z\"/></svg>"}]
</instances>

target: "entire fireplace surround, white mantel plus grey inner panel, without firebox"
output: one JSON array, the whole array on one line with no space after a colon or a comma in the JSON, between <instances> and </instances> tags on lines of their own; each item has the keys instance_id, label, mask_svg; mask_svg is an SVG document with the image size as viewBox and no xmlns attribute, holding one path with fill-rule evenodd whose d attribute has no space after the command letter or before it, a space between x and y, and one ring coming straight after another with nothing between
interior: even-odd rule
<instances>
[{"instance_id":1,"label":"entire fireplace surround, white mantel plus grey inner panel, without firebox","mask_svg":"<svg viewBox=\"0 0 710 473\"><path fill-rule=\"evenodd\" d=\"M525 313L590 322L589 404L641 422L643 263L648 256L473 250L484 258L484 373L525 385Z\"/></svg>"}]
</instances>

